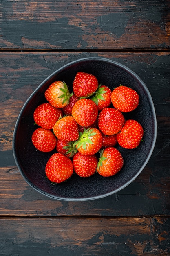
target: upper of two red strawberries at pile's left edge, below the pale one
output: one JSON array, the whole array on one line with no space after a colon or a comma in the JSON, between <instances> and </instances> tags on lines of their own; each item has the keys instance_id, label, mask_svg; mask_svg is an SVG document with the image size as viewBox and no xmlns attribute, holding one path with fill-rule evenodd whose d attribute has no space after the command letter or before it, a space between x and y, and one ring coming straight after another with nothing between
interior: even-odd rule
<instances>
[{"instance_id":1,"label":"upper of two red strawberries at pile's left edge, below the pale one","mask_svg":"<svg viewBox=\"0 0 170 256\"><path fill-rule=\"evenodd\" d=\"M63 112L60 108L55 108L50 103L42 103L33 113L33 118L38 126L45 129L53 129L53 126L63 116Z\"/></svg>"}]
</instances>

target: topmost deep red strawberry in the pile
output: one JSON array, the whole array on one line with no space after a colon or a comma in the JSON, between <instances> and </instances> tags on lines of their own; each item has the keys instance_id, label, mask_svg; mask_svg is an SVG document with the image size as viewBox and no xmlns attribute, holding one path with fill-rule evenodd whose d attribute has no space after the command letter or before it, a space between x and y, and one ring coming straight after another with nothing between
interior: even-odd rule
<instances>
[{"instance_id":1,"label":"topmost deep red strawberry in the pile","mask_svg":"<svg viewBox=\"0 0 170 256\"><path fill-rule=\"evenodd\" d=\"M97 78L85 72L78 72L73 81L73 92L77 97L91 96L98 87Z\"/></svg>"}]
</instances>

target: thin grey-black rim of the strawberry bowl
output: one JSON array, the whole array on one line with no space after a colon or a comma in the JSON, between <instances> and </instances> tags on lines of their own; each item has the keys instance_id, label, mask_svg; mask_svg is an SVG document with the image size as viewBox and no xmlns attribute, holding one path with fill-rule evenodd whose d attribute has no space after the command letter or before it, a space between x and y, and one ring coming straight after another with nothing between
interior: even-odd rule
<instances>
[{"instance_id":1,"label":"thin grey-black rim of the strawberry bowl","mask_svg":"<svg viewBox=\"0 0 170 256\"><path fill-rule=\"evenodd\" d=\"M23 173L22 168L20 167L20 164L18 163L17 154L15 152L16 134L17 134L17 130L18 130L18 127L19 127L19 124L20 124L20 117L22 116L22 113L24 112L24 110L25 110L27 104L29 103L29 101L31 101L31 98L33 97L33 95L37 93L37 91L42 87L42 85L44 85L44 83L46 83L49 79L51 79L53 76L55 76L55 74L60 73L65 68L68 68L69 66L71 66L73 64L76 64L76 63L79 63L79 62L82 62L82 61L104 61L104 62L113 64L115 66L118 66L118 67L122 68L123 70L125 70L126 72L130 73L132 76L135 76L135 78L139 81L139 83L141 83L142 86L144 87L144 89L145 89L145 91L146 91L146 93L148 95L148 98L150 100L150 105L152 107L153 120L154 120L154 133L153 133L153 139L152 139L152 145L151 145L151 148L150 148L150 152L148 153L148 156L147 156L144 164L138 170L136 175L134 175L128 182L126 182L125 184L120 186L118 189L115 189L115 190L113 190L113 191L111 191L109 193L105 193L103 195L91 196L91 197L85 197L85 198L64 198L64 197L55 196L55 195L51 195L49 193L46 193L45 191L42 191L41 189L38 189L32 182L30 182L28 180L26 175ZM154 103L153 103L150 91L148 90L148 88L147 88L146 84L144 83L144 81L133 70L131 70L129 67L126 67L125 65L123 65L123 64L121 64L121 63L119 63L117 61L113 61L113 60L110 60L109 58L103 58L103 57L85 57L85 58L79 58L79 59L77 59L75 61L68 62L67 64L65 64L62 67L60 67L57 70L55 70L46 79L44 79L44 81L42 81L42 83L40 83L40 85L38 85L38 87L33 91L33 93L25 101L24 105L22 106L22 108L20 110L20 113L18 115L17 121L15 123L14 131L13 131L13 140L12 140L12 151L13 151L13 157L14 157L15 163L16 163L16 165L18 167L18 170L20 171L22 177L24 178L24 180L33 189L35 189L36 191L38 191L42 195L46 195L47 197L49 197L51 199L63 200L63 201L88 201L88 200L95 200L95 199L100 199L100 198L107 197L109 195L113 195L113 194L121 191L122 189L124 189L130 183L132 183L137 178L137 176L139 176L141 171L145 168L146 164L148 163L148 161L149 161L149 159L150 159L150 157L151 157L151 155L153 153L153 150L155 148L156 139L157 139L157 118L156 118L155 107L154 107Z\"/></svg>"}]
</instances>

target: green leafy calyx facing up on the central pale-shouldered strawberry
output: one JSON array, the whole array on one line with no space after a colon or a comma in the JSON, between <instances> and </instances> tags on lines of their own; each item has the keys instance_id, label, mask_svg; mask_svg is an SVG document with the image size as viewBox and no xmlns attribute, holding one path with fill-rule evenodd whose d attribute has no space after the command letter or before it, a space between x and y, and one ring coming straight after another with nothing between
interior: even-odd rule
<instances>
[{"instance_id":1,"label":"green leafy calyx facing up on the central pale-shouldered strawberry","mask_svg":"<svg viewBox=\"0 0 170 256\"><path fill-rule=\"evenodd\" d=\"M93 130L93 128L84 128L83 133L79 132L79 139L75 141L73 145L77 146L77 149L82 146L82 148L86 150L86 144L93 144L93 142L90 139L90 137L96 135L96 132L94 132Z\"/></svg>"}]
</instances>

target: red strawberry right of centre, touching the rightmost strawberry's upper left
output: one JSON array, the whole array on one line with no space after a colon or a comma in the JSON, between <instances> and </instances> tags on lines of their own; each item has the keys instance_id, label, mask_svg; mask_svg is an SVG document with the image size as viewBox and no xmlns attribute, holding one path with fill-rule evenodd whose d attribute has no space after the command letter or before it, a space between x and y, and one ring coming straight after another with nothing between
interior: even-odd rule
<instances>
[{"instance_id":1,"label":"red strawberry right of centre, touching the rightmost strawberry's upper left","mask_svg":"<svg viewBox=\"0 0 170 256\"><path fill-rule=\"evenodd\" d=\"M105 135L118 133L124 124L124 115L115 108L104 108L98 116L99 130Z\"/></svg>"}]
</instances>

